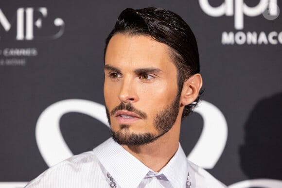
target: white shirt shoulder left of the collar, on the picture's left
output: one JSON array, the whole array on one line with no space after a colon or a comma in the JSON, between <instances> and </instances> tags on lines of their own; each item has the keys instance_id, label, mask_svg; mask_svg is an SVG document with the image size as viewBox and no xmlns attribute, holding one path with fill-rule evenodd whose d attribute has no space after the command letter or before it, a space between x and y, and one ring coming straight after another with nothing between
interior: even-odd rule
<instances>
[{"instance_id":1,"label":"white shirt shoulder left of the collar, on the picture's left","mask_svg":"<svg viewBox=\"0 0 282 188\"><path fill-rule=\"evenodd\" d=\"M25 188L66 187L66 184L80 184L87 181L90 174L96 175L97 179L105 179L104 173L93 151L89 151L73 155L47 169L29 182Z\"/></svg>"}]
</instances>

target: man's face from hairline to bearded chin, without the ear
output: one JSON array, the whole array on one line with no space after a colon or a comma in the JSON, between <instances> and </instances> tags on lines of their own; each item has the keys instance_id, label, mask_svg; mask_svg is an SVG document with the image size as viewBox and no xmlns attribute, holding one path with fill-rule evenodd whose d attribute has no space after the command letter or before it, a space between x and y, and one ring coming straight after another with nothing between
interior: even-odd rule
<instances>
[{"instance_id":1,"label":"man's face from hairline to bearded chin, without the ear","mask_svg":"<svg viewBox=\"0 0 282 188\"><path fill-rule=\"evenodd\" d=\"M115 34L106 50L104 95L118 143L145 144L169 131L179 112L169 48L150 36Z\"/></svg>"}]
</instances>

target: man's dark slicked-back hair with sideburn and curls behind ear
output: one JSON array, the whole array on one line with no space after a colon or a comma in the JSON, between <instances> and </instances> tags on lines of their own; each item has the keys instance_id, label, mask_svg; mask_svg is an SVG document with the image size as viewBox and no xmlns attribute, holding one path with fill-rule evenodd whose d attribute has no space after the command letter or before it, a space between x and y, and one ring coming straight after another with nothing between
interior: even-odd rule
<instances>
[{"instance_id":1,"label":"man's dark slicked-back hair with sideburn and curls behind ear","mask_svg":"<svg viewBox=\"0 0 282 188\"><path fill-rule=\"evenodd\" d=\"M200 72L199 54L195 36L187 23L177 14L162 8L127 8L118 17L116 25L106 38L107 45L115 34L146 35L170 47L170 56L178 71L178 96L183 83ZM185 106L182 119L188 116L199 102L197 99Z\"/></svg>"}]
</instances>

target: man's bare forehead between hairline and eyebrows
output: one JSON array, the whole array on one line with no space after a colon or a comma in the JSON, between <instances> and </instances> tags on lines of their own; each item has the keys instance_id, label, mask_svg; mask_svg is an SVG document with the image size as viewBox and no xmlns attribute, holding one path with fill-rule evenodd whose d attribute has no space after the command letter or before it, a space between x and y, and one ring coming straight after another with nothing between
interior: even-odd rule
<instances>
[{"instance_id":1,"label":"man's bare forehead between hairline and eyebrows","mask_svg":"<svg viewBox=\"0 0 282 188\"><path fill-rule=\"evenodd\" d=\"M167 45L145 35L115 34L109 41L105 63L113 66L174 66Z\"/></svg>"}]
</instances>

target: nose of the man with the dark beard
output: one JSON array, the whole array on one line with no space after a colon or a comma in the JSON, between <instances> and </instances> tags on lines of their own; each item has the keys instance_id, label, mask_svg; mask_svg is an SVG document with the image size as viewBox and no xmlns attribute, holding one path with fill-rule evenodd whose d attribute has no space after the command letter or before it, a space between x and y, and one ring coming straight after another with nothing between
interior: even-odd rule
<instances>
[{"instance_id":1,"label":"nose of the man with the dark beard","mask_svg":"<svg viewBox=\"0 0 282 188\"><path fill-rule=\"evenodd\" d=\"M137 85L134 84L133 80L123 79L119 92L119 99L123 103L135 103L139 101L139 97L137 95Z\"/></svg>"}]
</instances>

